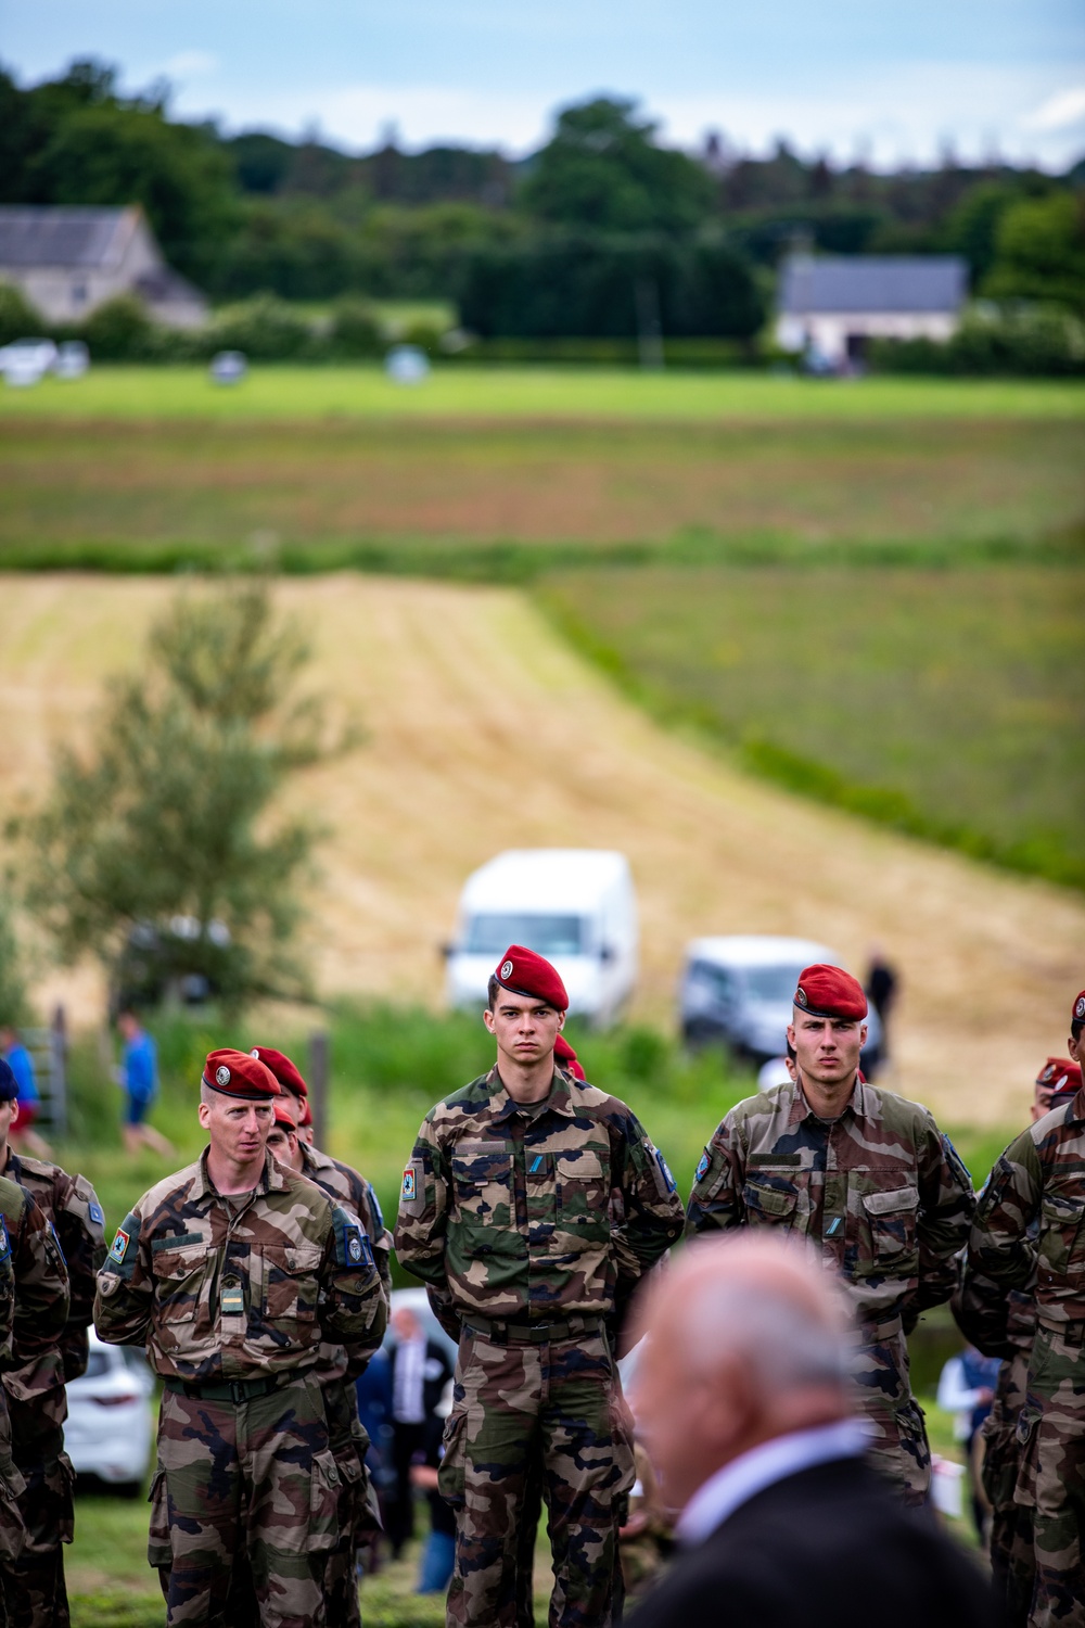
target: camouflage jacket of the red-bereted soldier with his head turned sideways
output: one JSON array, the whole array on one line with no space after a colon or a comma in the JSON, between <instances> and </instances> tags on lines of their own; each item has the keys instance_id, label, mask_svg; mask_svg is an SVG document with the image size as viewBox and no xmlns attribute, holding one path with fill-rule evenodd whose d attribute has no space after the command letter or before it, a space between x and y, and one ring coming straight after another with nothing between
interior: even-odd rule
<instances>
[{"instance_id":1,"label":"camouflage jacket of the red-bereted soldier with his head turned sideways","mask_svg":"<svg viewBox=\"0 0 1085 1628\"><path fill-rule=\"evenodd\" d=\"M322 1340L364 1366L384 1325L361 1224L270 1154L242 1208L215 1190L207 1149L151 1187L98 1275L99 1337L146 1341L151 1368L166 1379L207 1384L306 1369Z\"/></svg>"}]
</instances>

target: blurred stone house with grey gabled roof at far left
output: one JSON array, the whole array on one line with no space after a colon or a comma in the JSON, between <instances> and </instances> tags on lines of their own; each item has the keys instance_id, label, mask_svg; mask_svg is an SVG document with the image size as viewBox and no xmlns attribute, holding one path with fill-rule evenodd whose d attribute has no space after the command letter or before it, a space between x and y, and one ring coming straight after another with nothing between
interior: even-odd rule
<instances>
[{"instance_id":1,"label":"blurred stone house with grey gabled roof at far left","mask_svg":"<svg viewBox=\"0 0 1085 1628\"><path fill-rule=\"evenodd\" d=\"M168 327L207 319L203 295L166 265L138 207L0 207L0 280L50 322L78 322L115 295L135 295Z\"/></svg>"}]
</instances>

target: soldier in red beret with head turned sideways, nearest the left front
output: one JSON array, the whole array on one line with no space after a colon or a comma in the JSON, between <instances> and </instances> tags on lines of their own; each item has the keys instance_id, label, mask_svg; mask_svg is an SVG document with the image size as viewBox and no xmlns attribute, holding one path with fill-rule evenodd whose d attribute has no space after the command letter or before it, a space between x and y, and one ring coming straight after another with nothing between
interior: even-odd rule
<instances>
[{"instance_id":1,"label":"soldier in red beret with head turned sideways, nearest the left front","mask_svg":"<svg viewBox=\"0 0 1085 1628\"><path fill-rule=\"evenodd\" d=\"M267 1153L278 1081L211 1052L200 1159L140 1198L98 1276L94 1324L164 1381L148 1558L169 1628L221 1615L247 1548L265 1628L322 1628L338 1468L322 1341L364 1366L386 1324L358 1219Z\"/></svg>"}]
</instances>

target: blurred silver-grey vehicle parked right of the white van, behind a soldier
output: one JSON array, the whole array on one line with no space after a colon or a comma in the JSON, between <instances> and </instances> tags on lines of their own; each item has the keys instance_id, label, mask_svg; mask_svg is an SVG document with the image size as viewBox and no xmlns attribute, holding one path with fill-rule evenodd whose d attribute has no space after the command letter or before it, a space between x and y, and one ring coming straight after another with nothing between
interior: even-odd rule
<instances>
[{"instance_id":1,"label":"blurred silver-grey vehicle parked right of the white van, behind a soldier","mask_svg":"<svg viewBox=\"0 0 1085 1628\"><path fill-rule=\"evenodd\" d=\"M695 938L686 944L678 991L686 1045L721 1042L758 1068L787 1048L792 996L804 967L821 961L843 967L839 956L805 938L742 934ZM862 1070L878 1066L882 1026L870 1008Z\"/></svg>"}]
</instances>

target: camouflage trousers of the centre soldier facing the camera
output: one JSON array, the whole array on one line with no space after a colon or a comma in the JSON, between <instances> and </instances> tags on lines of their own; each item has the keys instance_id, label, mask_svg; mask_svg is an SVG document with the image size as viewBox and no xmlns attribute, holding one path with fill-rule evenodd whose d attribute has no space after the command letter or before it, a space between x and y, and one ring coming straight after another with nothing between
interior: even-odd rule
<instances>
[{"instance_id":1,"label":"camouflage trousers of the centre soldier facing the camera","mask_svg":"<svg viewBox=\"0 0 1085 1628\"><path fill-rule=\"evenodd\" d=\"M618 1527L634 1475L602 1325L534 1343L468 1322L439 1472L455 1509L449 1628L516 1628L532 1475L548 1511L551 1628L610 1628L621 1615Z\"/></svg>"}]
</instances>

